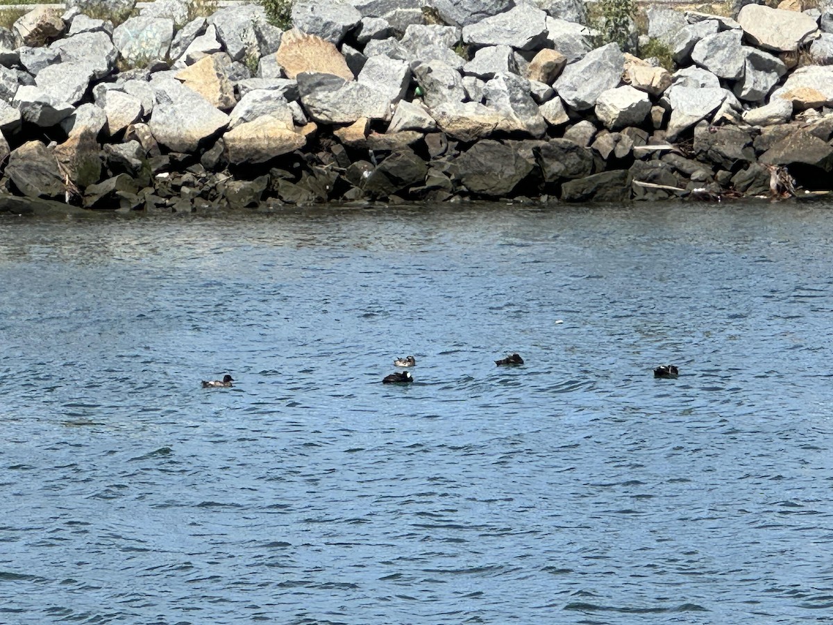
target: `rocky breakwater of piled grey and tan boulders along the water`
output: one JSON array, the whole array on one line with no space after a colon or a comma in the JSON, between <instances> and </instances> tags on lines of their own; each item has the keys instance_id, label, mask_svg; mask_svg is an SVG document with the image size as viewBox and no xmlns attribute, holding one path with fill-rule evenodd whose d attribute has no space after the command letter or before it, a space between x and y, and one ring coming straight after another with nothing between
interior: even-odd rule
<instances>
[{"instance_id":1,"label":"rocky breakwater of piled grey and tan boulders along the water","mask_svg":"<svg viewBox=\"0 0 833 625\"><path fill-rule=\"evenodd\" d=\"M0 211L831 188L827 11L651 9L669 71L573 0L109 1L0 29Z\"/></svg>"}]
</instances>

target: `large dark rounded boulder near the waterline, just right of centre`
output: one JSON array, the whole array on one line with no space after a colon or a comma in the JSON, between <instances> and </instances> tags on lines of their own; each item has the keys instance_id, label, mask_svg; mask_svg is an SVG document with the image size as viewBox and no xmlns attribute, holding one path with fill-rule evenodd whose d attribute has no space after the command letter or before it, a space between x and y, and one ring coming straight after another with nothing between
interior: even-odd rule
<instances>
[{"instance_id":1,"label":"large dark rounded boulder near the waterline, just right of centre","mask_svg":"<svg viewBox=\"0 0 833 625\"><path fill-rule=\"evenodd\" d=\"M456 159L460 181L471 193L490 198L509 195L532 171L534 163L512 145L478 141Z\"/></svg>"}]
</instances>

